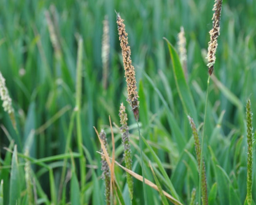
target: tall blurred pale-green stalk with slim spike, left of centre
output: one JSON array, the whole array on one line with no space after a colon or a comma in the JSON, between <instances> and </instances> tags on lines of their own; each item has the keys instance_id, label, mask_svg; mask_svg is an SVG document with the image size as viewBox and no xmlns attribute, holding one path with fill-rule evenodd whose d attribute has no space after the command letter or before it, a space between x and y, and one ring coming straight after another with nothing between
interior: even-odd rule
<instances>
[{"instance_id":1,"label":"tall blurred pale-green stalk with slim spike, left of centre","mask_svg":"<svg viewBox=\"0 0 256 205\"><path fill-rule=\"evenodd\" d=\"M81 128L81 96L82 96L82 37L79 37L78 40L78 57L77 57L77 85L76 85L76 106L75 111L77 111L77 146L80 156L79 164L80 164L80 175L81 175L81 194L84 193L85 187L85 163L86 159L84 156L84 152L82 149L82 128ZM81 196L81 204L84 201L84 196Z\"/></svg>"}]
</instances>

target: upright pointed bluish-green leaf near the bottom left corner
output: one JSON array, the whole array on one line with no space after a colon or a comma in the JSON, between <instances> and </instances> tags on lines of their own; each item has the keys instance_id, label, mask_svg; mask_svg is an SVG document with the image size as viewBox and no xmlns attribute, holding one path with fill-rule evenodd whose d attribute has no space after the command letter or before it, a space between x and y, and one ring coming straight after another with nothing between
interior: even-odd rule
<instances>
[{"instance_id":1,"label":"upright pointed bluish-green leaf near the bottom left corner","mask_svg":"<svg viewBox=\"0 0 256 205\"><path fill-rule=\"evenodd\" d=\"M14 146L12 153L12 167L10 177L9 204L16 205L21 194L21 180L19 179L19 165L17 156L17 146Z\"/></svg>"}]
</instances>

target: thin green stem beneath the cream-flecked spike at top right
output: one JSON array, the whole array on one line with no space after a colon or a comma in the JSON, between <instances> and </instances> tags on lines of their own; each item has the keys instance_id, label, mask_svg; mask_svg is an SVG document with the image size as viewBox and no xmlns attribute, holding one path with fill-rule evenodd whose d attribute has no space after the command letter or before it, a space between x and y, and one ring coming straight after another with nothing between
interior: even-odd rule
<instances>
[{"instance_id":1,"label":"thin green stem beneath the cream-flecked spike at top right","mask_svg":"<svg viewBox=\"0 0 256 205\"><path fill-rule=\"evenodd\" d=\"M204 127L202 128L202 143L201 143L201 156L200 156L200 177L199 177L199 189L198 189L198 205L201 204L201 184L202 184L202 150L204 148L204 138L205 138L205 121L206 121L206 116L207 116L207 105L208 105L208 95L209 95L209 84L210 84L210 76L208 77L207 80L207 94L206 94L206 102L205 102L205 110L204 110ZM202 201L204 204L205 201Z\"/></svg>"}]
</instances>

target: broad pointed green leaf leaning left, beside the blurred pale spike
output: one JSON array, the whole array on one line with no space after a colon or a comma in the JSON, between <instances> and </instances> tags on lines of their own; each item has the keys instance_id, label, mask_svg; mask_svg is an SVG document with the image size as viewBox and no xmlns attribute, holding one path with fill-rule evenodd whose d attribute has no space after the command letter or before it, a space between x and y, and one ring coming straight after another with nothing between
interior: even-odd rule
<instances>
[{"instance_id":1,"label":"broad pointed green leaf leaning left, beside the blurred pale spike","mask_svg":"<svg viewBox=\"0 0 256 205\"><path fill-rule=\"evenodd\" d=\"M195 109L192 94L189 90L187 81L185 80L181 63L179 62L178 53L176 52L174 46L172 46L167 39L165 40L167 41L169 53L172 59L172 69L174 70L175 83L178 88L179 98L181 98L185 113L194 119L195 124L198 124L197 110Z\"/></svg>"}]
</instances>

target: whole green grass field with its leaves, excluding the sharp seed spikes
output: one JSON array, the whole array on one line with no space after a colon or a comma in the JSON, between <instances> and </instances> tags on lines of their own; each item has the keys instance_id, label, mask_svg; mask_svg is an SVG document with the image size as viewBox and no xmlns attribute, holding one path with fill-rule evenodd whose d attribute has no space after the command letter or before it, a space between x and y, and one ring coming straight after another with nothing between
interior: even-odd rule
<instances>
[{"instance_id":1,"label":"whole green grass field with its leaves, excluding the sharp seed spikes","mask_svg":"<svg viewBox=\"0 0 256 205\"><path fill-rule=\"evenodd\" d=\"M201 140L208 204L250 204L245 200L246 105L250 98L256 113L256 1L223 2L207 94L205 57L213 5L213 0L0 0L0 71L14 108L9 115L0 107L0 205L106 204L97 152L101 143L94 127L104 129L109 156L115 151L115 160L125 166L121 102L127 108L132 171L142 176L115 11L124 19L135 67L145 178L158 189L146 185L148 204L172 204L162 191L177 204L204 204L202 170L187 115ZM107 64L102 63L105 16ZM181 26L187 41L186 73L175 52ZM252 148L255 156L255 144ZM125 170L115 165L114 175L109 204L145 204L140 180L132 177L131 200Z\"/></svg>"}]
</instances>

